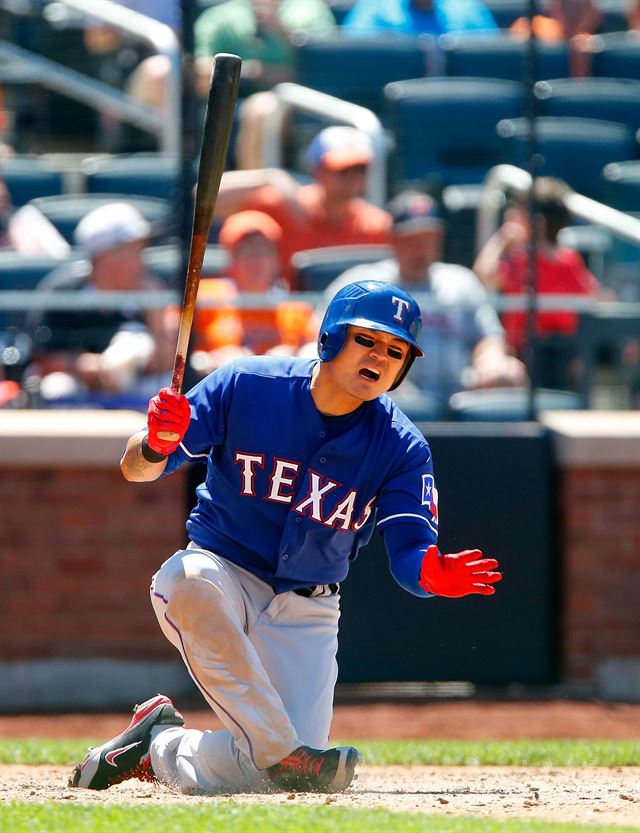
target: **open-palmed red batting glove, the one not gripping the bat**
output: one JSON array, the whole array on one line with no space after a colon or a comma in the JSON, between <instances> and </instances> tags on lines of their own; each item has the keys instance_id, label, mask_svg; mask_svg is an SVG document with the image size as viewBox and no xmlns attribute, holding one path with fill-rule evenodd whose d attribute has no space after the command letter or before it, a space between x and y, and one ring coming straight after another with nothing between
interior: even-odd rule
<instances>
[{"instance_id":1,"label":"open-palmed red batting glove, the one not gripping the bat","mask_svg":"<svg viewBox=\"0 0 640 833\"><path fill-rule=\"evenodd\" d=\"M432 544L424 554L418 583L427 593L456 599L478 593L491 596L493 584L502 579L495 558L483 558L480 550L463 550L445 555Z\"/></svg>"}]
</instances>

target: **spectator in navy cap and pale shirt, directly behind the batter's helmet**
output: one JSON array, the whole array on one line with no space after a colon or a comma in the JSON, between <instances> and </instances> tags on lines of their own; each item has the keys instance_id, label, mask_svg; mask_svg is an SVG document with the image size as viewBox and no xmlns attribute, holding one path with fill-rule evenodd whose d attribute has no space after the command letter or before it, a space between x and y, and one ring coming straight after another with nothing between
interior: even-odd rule
<instances>
[{"instance_id":1,"label":"spectator in navy cap and pale shirt, directly behind the batter's helmet","mask_svg":"<svg viewBox=\"0 0 640 833\"><path fill-rule=\"evenodd\" d=\"M412 294L425 293L443 305L422 305L421 347L426 358L400 388L418 388L443 414L451 394L462 388L523 384L524 366L508 354L498 316L476 276L464 266L440 261L444 223L436 203L425 194L404 191L388 209L395 256L348 269L326 289L327 301L346 284L371 279L396 283Z\"/></svg>"}]
</instances>

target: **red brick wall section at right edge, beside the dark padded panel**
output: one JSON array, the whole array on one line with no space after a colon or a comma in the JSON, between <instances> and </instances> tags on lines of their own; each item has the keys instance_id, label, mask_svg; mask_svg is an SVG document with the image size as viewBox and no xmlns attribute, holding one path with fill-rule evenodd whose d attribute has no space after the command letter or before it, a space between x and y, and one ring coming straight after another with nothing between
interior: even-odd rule
<instances>
[{"instance_id":1,"label":"red brick wall section at right edge, beside the dark padded panel","mask_svg":"<svg viewBox=\"0 0 640 833\"><path fill-rule=\"evenodd\" d=\"M609 658L640 661L640 468L565 469L560 500L563 677L591 682Z\"/></svg>"}]
</instances>

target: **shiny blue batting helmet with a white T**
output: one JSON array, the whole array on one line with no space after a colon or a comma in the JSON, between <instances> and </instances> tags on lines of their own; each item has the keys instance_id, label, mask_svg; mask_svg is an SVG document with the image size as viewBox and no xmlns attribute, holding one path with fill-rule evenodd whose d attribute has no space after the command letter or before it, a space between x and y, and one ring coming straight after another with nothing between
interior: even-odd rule
<instances>
[{"instance_id":1,"label":"shiny blue batting helmet with a white T","mask_svg":"<svg viewBox=\"0 0 640 833\"><path fill-rule=\"evenodd\" d=\"M418 346L422 327L420 307L411 295L398 286L384 281L358 281L340 289L327 307L320 325L320 361L330 362L340 353L350 324L390 333L410 345L408 360L391 390L397 388L407 375L414 359L424 356Z\"/></svg>"}]
</instances>

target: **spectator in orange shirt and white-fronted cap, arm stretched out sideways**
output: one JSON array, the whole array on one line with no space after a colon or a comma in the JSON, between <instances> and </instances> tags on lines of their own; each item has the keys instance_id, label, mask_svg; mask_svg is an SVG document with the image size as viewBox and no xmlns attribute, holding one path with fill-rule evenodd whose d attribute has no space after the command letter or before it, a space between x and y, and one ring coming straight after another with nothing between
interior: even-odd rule
<instances>
[{"instance_id":1,"label":"spectator in orange shirt and white-fronted cap, arm stretched out sideways","mask_svg":"<svg viewBox=\"0 0 640 833\"><path fill-rule=\"evenodd\" d=\"M273 217L282 228L280 254L289 280L294 252L389 242L389 215L361 198L374 157L369 137L353 127L327 127L307 155L314 183L300 185L279 168L230 171L216 203L221 218L243 209Z\"/></svg>"}]
</instances>

